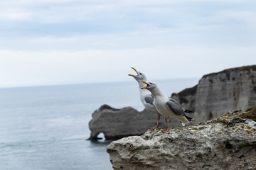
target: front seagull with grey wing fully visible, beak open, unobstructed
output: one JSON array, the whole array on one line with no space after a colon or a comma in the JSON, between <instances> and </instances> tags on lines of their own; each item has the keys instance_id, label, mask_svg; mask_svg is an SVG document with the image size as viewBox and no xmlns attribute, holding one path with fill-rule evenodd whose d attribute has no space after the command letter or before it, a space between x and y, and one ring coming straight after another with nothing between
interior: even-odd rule
<instances>
[{"instance_id":1,"label":"front seagull with grey wing fully visible, beak open, unobstructed","mask_svg":"<svg viewBox=\"0 0 256 170\"><path fill-rule=\"evenodd\" d=\"M154 96L153 106L154 109L161 115L164 115L166 129L162 132L170 132L171 118L176 118L181 121L181 123L187 124L194 120L193 118L188 117L181 105L174 100L174 98L169 98L164 94L159 87L153 82L142 81L146 86L141 89L147 89L151 91L151 94ZM167 128L167 118L170 117L169 126Z\"/></svg>"}]
</instances>

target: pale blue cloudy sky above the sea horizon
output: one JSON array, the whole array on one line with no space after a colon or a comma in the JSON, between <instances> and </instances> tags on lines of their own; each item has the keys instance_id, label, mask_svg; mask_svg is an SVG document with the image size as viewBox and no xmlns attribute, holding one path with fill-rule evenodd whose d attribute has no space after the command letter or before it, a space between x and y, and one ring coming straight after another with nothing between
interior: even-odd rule
<instances>
[{"instance_id":1,"label":"pale blue cloudy sky above the sea horizon","mask_svg":"<svg viewBox=\"0 0 256 170\"><path fill-rule=\"evenodd\" d=\"M256 1L2 0L0 88L203 77L256 64Z\"/></svg>"}]
</instances>

